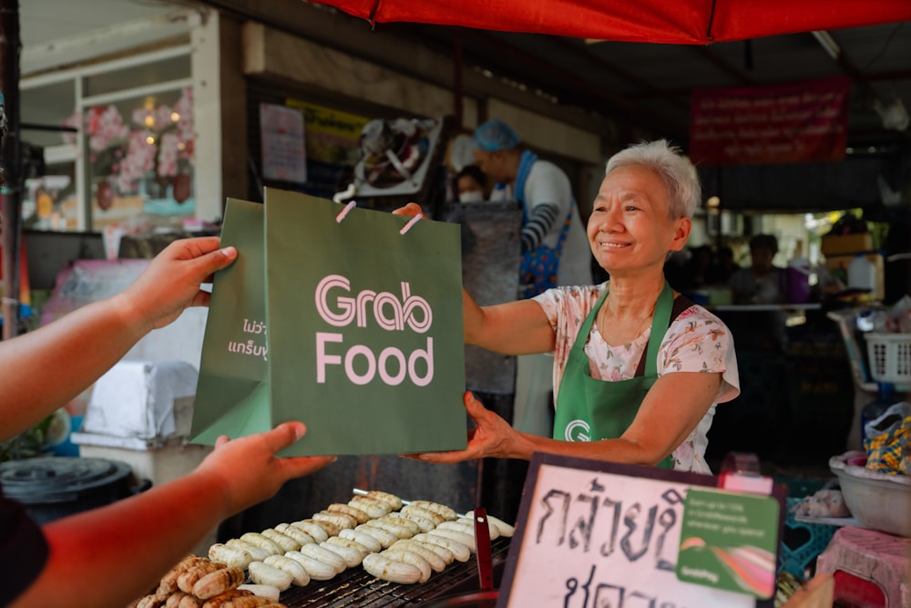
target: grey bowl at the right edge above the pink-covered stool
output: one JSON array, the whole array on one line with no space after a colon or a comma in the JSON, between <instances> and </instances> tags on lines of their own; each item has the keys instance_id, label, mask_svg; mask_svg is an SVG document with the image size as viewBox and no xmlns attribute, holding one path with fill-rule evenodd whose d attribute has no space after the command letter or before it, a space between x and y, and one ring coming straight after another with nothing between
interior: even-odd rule
<instances>
[{"instance_id":1,"label":"grey bowl at the right edge above the pink-covered stool","mask_svg":"<svg viewBox=\"0 0 911 608\"><path fill-rule=\"evenodd\" d=\"M848 510L868 528L911 538L911 477L849 464L864 456L853 451L829 459Z\"/></svg>"}]
</instances>

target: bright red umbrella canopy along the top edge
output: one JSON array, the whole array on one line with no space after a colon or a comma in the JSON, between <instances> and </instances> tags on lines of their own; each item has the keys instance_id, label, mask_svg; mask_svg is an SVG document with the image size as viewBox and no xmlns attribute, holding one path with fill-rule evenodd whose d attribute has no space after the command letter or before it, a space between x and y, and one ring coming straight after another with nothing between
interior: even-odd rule
<instances>
[{"instance_id":1,"label":"bright red umbrella canopy along the top edge","mask_svg":"<svg viewBox=\"0 0 911 608\"><path fill-rule=\"evenodd\" d=\"M911 0L316 0L410 22L625 42L709 44L911 20Z\"/></svg>"}]
</instances>

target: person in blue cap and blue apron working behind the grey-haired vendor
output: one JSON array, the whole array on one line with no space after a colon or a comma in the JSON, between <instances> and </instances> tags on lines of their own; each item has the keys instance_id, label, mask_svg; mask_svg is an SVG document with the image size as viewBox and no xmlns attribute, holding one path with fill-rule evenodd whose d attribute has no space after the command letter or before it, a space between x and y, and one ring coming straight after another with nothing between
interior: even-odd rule
<instances>
[{"instance_id":1,"label":"person in blue cap and blue apron working behind the grey-haired vendor","mask_svg":"<svg viewBox=\"0 0 911 608\"><path fill-rule=\"evenodd\" d=\"M472 139L477 165L496 182L491 199L522 206L519 296L590 284L589 241L567 174L521 149L516 131L502 120L487 120Z\"/></svg>"}]
</instances>

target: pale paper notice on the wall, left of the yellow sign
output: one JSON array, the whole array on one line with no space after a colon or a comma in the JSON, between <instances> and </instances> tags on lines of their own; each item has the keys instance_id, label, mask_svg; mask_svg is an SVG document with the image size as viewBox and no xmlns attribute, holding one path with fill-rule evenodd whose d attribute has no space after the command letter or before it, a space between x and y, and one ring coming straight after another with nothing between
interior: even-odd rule
<instances>
[{"instance_id":1,"label":"pale paper notice on the wall, left of the yellow sign","mask_svg":"<svg viewBox=\"0 0 911 608\"><path fill-rule=\"evenodd\" d=\"M260 104L262 177L266 180L306 183L303 115L301 110Z\"/></svg>"}]
</instances>

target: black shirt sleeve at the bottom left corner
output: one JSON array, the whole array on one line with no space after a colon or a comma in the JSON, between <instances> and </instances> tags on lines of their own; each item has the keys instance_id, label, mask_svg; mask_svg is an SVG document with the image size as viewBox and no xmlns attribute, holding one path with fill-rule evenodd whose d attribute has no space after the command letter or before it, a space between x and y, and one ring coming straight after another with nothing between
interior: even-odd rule
<instances>
[{"instance_id":1,"label":"black shirt sleeve at the bottom left corner","mask_svg":"<svg viewBox=\"0 0 911 608\"><path fill-rule=\"evenodd\" d=\"M24 592L47 562L48 547L44 533L26 508L3 495L0 486L0 606L6 606Z\"/></svg>"}]
</instances>

